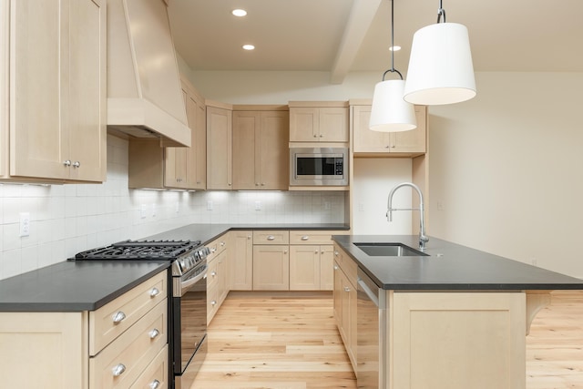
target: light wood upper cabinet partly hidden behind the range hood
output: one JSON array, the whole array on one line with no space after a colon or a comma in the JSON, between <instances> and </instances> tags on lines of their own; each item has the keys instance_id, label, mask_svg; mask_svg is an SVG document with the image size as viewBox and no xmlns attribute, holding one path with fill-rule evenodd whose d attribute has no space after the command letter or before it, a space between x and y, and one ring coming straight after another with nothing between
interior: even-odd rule
<instances>
[{"instance_id":1,"label":"light wood upper cabinet partly hidden behind the range hood","mask_svg":"<svg viewBox=\"0 0 583 389\"><path fill-rule=\"evenodd\" d=\"M204 97L182 78L192 145L160 148L158 138L130 138L129 188L206 189L207 128Z\"/></svg>"}]
</instances>

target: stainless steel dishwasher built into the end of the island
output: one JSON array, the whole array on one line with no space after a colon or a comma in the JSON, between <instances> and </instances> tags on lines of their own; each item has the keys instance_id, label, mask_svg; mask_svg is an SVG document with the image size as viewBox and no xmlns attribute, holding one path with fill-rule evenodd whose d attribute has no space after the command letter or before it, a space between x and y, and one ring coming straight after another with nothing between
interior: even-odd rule
<instances>
[{"instance_id":1,"label":"stainless steel dishwasher built into the end of the island","mask_svg":"<svg viewBox=\"0 0 583 389\"><path fill-rule=\"evenodd\" d=\"M359 388L386 387L386 298L384 290L358 269L356 379Z\"/></svg>"}]
</instances>

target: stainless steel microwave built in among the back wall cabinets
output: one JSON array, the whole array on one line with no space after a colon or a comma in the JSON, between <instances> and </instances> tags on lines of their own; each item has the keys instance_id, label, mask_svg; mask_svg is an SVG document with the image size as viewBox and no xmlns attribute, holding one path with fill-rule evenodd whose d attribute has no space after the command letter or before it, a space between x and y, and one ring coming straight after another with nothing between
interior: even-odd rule
<instances>
[{"instance_id":1,"label":"stainless steel microwave built in among the back wall cabinets","mask_svg":"<svg viewBox=\"0 0 583 389\"><path fill-rule=\"evenodd\" d=\"M290 185L348 185L348 148L290 148Z\"/></svg>"}]
</instances>

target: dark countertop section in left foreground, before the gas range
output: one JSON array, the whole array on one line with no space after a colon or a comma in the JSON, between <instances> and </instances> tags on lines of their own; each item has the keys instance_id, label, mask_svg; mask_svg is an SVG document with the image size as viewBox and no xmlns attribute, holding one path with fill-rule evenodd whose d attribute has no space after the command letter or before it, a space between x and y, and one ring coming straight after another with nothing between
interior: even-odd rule
<instances>
[{"instance_id":1,"label":"dark countertop section in left foreground, before the gas range","mask_svg":"<svg viewBox=\"0 0 583 389\"><path fill-rule=\"evenodd\" d=\"M169 261L63 261L0 281L0 312L95 311Z\"/></svg>"}]
</instances>

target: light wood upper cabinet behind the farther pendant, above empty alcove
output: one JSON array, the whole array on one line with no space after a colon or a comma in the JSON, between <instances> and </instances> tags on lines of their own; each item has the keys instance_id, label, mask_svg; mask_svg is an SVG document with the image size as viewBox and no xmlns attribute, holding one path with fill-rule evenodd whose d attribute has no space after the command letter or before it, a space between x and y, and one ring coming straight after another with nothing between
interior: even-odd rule
<instances>
[{"instance_id":1,"label":"light wood upper cabinet behind the farther pendant, above empty alcove","mask_svg":"<svg viewBox=\"0 0 583 389\"><path fill-rule=\"evenodd\" d=\"M415 157L425 153L427 110L415 106L417 128L402 132L379 132L369 128L370 105L352 106L354 156Z\"/></svg>"}]
</instances>

